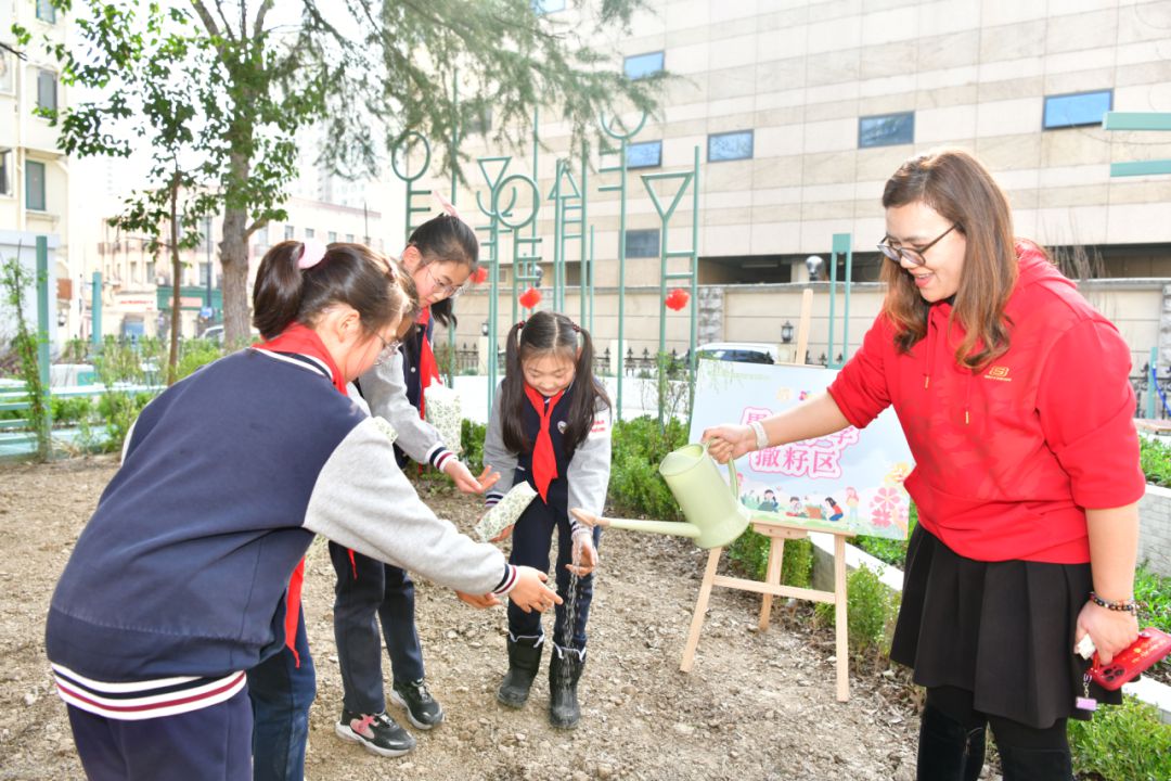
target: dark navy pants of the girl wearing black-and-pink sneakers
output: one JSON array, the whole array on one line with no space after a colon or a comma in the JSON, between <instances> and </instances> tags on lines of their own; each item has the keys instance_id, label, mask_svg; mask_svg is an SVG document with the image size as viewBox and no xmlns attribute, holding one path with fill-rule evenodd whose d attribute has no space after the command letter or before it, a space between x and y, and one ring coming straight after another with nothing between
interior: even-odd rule
<instances>
[{"instance_id":1,"label":"dark navy pants of the girl wearing black-and-pink sneakers","mask_svg":"<svg viewBox=\"0 0 1171 781\"><path fill-rule=\"evenodd\" d=\"M386 642L396 684L424 677L423 648L415 629L415 582L405 570L354 553L334 542L329 557L337 573L334 638L342 670L343 707L382 713L382 642ZM382 636L378 624L382 623Z\"/></svg>"}]
</instances>

